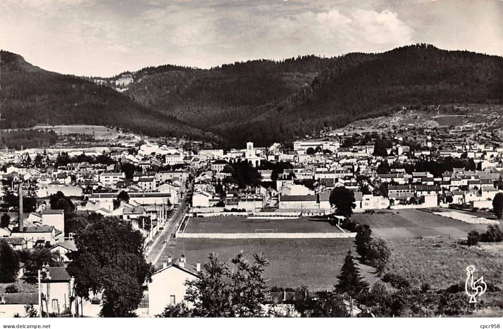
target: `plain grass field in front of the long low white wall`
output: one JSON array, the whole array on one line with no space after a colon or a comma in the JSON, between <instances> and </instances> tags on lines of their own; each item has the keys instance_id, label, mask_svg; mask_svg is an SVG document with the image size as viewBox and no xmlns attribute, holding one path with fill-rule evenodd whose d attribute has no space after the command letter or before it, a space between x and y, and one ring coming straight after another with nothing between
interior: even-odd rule
<instances>
[{"instance_id":1,"label":"plain grass field in front of the long low white wall","mask_svg":"<svg viewBox=\"0 0 503 329\"><path fill-rule=\"evenodd\" d=\"M205 263L211 252L228 260L243 250L252 260L253 253L263 252L271 263L265 272L269 286L307 286L310 290L332 289L348 249L354 239L172 239L162 253L156 268L167 255L173 260L185 254L188 268L194 269L199 260ZM376 280L373 268L361 265L362 275L370 283Z\"/></svg>"}]
</instances>

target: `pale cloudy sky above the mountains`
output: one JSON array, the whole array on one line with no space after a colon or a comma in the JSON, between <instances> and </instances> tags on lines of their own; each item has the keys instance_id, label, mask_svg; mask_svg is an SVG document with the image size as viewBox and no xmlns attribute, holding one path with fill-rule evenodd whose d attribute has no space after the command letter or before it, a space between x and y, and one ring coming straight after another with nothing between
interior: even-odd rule
<instances>
[{"instance_id":1,"label":"pale cloudy sky above the mountains","mask_svg":"<svg viewBox=\"0 0 503 329\"><path fill-rule=\"evenodd\" d=\"M0 49L75 75L414 43L503 55L503 0L0 0Z\"/></svg>"}]
</instances>

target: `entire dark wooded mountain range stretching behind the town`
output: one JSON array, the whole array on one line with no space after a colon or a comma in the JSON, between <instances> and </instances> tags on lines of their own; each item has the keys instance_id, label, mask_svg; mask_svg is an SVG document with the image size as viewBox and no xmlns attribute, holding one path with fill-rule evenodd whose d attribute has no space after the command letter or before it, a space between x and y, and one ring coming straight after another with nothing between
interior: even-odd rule
<instances>
[{"instance_id":1,"label":"entire dark wooded mountain range stretching behind the town","mask_svg":"<svg viewBox=\"0 0 503 329\"><path fill-rule=\"evenodd\" d=\"M225 148L242 147L246 141L264 146L290 142L402 106L500 104L503 98L502 57L427 44L379 54L254 60L211 69L147 67L129 72L133 82L123 94L73 76L31 72L29 65L8 69L11 80L2 83L5 112L11 112L9 127L106 120L153 136L185 135ZM20 108L33 116L20 120Z\"/></svg>"}]
</instances>

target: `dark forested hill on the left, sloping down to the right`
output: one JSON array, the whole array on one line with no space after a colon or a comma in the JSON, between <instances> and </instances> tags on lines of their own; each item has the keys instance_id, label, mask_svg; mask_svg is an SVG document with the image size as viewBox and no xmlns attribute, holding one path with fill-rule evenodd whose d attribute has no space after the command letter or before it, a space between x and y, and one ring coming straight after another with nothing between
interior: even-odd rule
<instances>
[{"instance_id":1,"label":"dark forested hill on the left, sloping down to the right","mask_svg":"<svg viewBox=\"0 0 503 329\"><path fill-rule=\"evenodd\" d=\"M111 88L45 71L20 55L1 53L2 128L39 123L118 126L151 136L215 139L186 123L149 109Z\"/></svg>"}]
</instances>

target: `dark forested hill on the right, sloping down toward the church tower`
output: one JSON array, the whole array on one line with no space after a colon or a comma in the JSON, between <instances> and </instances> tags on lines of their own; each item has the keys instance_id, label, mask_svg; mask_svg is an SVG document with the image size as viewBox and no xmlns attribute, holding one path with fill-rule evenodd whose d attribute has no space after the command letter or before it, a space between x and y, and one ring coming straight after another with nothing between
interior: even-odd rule
<instances>
[{"instance_id":1,"label":"dark forested hill on the right, sloping down toward the church tower","mask_svg":"<svg viewBox=\"0 0 503 329\"><path fill-rule=\"evenodd\" d=\"M432 45L381 54L348 54L314 78L309 88L271 106L259 117L215 131L230 145L245 140L269 144L323 127L391 113L400 106L498 103L503 100L503 58ZM274 123L274 124L271 124Z\"/></svg>"}]
</instances>

